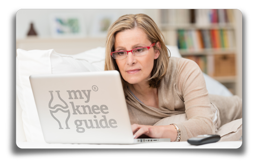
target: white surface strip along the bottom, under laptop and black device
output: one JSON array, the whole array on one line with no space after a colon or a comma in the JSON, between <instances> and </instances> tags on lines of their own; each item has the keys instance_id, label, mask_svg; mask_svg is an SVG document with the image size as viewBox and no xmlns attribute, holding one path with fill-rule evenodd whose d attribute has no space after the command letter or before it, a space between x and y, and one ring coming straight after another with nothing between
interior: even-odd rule
<instances>
[{"instance_id":1,"label":"white surface strip along the bottom, under laptop and black device","mask_svg":"<svg viewBox=\"0 0 256 165\"><path fill-rule=\"evenodd\" d=\"M239 148L242 141L226 141L205 145L190 145L188 142L157 142L133 145L95 145L95 144L47 144L16 142L19 148Z\"/></svg>"}]
</instances>

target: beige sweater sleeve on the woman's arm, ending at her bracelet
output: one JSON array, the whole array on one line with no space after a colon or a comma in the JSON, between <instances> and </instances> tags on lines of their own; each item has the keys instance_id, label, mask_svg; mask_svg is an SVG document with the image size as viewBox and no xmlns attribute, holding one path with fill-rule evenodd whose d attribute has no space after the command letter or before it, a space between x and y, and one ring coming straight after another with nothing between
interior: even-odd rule
<instances>
[{"instance_id":1,"label":"beige sweater sleeve on the woman's arm, ending at her bracelet","mask_svg":"<svg viewBox=\"0 0 256 165\"><path fill-rule=\"evenodd\" d=\"M175 123L181 130L181 141L202 134L214 134L214 112L200 67L190 59L180 59L176 70L176 91L184 100L188 120Z\"/></svg>"}]
</instances>

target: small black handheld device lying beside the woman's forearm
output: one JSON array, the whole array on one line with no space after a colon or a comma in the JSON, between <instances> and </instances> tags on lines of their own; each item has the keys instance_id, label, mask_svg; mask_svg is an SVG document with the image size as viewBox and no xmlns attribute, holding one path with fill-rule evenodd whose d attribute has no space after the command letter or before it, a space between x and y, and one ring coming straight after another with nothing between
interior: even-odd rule
<instances>
[{"instance_id":1,"label":"small black handheld device lying beside the woman's forearm","mask_svg":"<svg viewBox=\"0 0 256 165\"><path fill-rule=\"evenodd\" d=\"M188 139L191 145L204 145L208 143L215 143L221 139L220 135L198 135Z\"/></svg>"}]
</instances>

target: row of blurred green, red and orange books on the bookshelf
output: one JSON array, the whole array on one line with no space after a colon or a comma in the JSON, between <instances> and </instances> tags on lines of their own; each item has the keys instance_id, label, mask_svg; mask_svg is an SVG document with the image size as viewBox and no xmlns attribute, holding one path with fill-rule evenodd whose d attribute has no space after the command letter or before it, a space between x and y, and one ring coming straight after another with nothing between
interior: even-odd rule
<instances>
[{"instance_id":1,"label":"row of blurred green, red and orange books on the bookshelf","mask_svg":"<svg viewBox=\"0 0 256 165\"><path fill-rule=\"evenodd\" d=\"M234 32L231 29L184 30L177 31L178 47L181 50L200 51L202 49L234 48Z\"/></svg>"}]
</instances>

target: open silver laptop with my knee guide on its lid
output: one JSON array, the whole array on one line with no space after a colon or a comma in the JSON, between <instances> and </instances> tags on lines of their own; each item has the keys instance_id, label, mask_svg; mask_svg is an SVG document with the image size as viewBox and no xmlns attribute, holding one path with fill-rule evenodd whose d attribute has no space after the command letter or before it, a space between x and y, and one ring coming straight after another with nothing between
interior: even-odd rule
<instances>
[{"instance_id":1,"label":"open silver laptop with my knee guide on its lid","mask_svg":"<svg viewBox=\"0 0 256 165\"><path fill-rule=\"evenodd\" d=\"M47 143L135 144L118 71L29 77Z\"/></svg>"}]
</instances>

